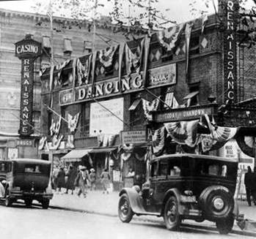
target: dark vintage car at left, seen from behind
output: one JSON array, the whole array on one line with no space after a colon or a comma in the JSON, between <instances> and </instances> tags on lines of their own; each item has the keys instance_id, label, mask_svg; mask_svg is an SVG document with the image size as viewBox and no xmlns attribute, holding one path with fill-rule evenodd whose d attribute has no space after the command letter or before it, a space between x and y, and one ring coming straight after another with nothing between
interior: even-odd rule
<instances>
[{"instance_id":1,"label":"dark vintage car at left, seen from behind","mask_svg":"<svg viewBox=\"0 0 256 239\"><path fill-rule=\"evenodd\" d=\"M4 182L5 205L10 207L16 200L31 206L37 200L47 209L51 198L51 163L41 159L12 159L7 163Z\"/></svg>"}]
</instances>

